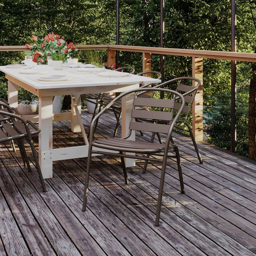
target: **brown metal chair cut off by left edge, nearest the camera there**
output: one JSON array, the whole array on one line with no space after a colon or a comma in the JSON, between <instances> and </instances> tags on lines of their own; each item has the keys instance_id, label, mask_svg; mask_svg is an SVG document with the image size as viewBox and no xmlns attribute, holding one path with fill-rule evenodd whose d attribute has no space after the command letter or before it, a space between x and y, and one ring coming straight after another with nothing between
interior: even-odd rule
<instances>
[{"instance_id":1,"label":"brown metal chair cut off by left edge, nearest the camera there","mask_svg":"<svg viewBox=\"0 0 256 256\"><path fill-rule=\"evenodd\" d=\"M32 122L25 121L21 116L14 114L13 109L8 104L0 102L0 105L4 107L3 109L0 109L0 142L16 140L21 152L24 166L27 165L28 170L31 171L30 163L24 147L24 139L26 139L33 153L35 166L38 170L43 191L46 192L45 182L43 181L37 153L35 152L32 140L32 135L40 133L40 129ZM33 128L33 130L30 130L29 125Z\"/></svg>"}]
</instances>

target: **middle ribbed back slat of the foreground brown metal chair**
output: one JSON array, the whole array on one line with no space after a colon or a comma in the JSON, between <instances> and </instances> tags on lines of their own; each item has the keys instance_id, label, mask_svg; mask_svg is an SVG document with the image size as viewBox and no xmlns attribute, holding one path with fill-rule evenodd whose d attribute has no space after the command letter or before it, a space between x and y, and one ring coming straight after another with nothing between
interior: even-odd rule
<instances>
[{"instance_id":1,"label":"middle ribbed back slat of the foreground brown metal chair","mask_svg":"<svg viewBox=\"0 0 256 256\"><path fill-rule=\"evenodd\" d=\"M131 111L131 117L139 119L159 119L159 120L173 120L173 114L170 112L163 111L149 111L133 109Z\"/></svg>"}]
</instances>

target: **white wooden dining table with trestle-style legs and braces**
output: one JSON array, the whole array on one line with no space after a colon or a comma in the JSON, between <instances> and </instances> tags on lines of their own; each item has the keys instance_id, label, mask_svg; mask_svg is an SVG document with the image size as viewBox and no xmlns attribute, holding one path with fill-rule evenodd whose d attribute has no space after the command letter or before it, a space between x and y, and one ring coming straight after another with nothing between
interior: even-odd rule
<instances>
[{"instance_id":1,"label":"white wooden dining table with trestle-style legs and braces","mask_svg":"<svg viewBox=\"0 0 256 256\"><path fill-rule=\"evenodd\" d=\"M0 66L0 71L6 74L8 80L8 102L11 107L18 107L18 86L39 97L39 114L23 116L26 120L39 123L39 163L43 178L53 177L53 161L81 158L88 156L88 140L83 129L81 113L81 94L125 92L139 87L140 83L160 82L160 80L131 75L122 78L103 78L96 74L83 74L76 69L53 70L47 65L38 65L33 69L49 70L53 74L65 74L70 81L40 82L39 74L20 74L21 69L11 69ZM75 73L74 73L75 72ZM81 73L81 74L80 74ZM71 95L72 111L53 114L53 96ZM128 134L133 95L122 98L122 136ZM82 132L85 145L53 149L53 121L71 120L73 132ZM82 128L82 129L81 129ZM135 140L135 133L131 135ZM126 166L134 166L134 159L126 159Z\"/></svg>"}]
</instances>

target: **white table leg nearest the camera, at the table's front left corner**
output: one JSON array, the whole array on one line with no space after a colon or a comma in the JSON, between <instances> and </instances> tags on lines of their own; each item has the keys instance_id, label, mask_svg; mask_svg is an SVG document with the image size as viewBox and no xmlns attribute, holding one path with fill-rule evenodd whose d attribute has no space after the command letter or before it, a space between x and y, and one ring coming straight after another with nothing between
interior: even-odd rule
<instances>
[{"instance_id":1,"label":"white table leg nearest the camera, at the table's front left corner","mask_svg":"<svg viewBox=\"0 0 256 256\"><path fill-rule=\"evenodd\" d=\"M39 164L43 178L53 177L53 97L39 97Z\"/></svg>"}]
</instances>

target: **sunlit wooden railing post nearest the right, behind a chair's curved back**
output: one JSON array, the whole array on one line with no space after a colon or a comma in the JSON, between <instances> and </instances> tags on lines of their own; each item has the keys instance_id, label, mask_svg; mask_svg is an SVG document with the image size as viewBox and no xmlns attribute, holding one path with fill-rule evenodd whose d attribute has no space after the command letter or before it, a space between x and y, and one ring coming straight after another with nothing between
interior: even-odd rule
<instances>
[{"instance_id":1,"label":"sunlit wooden railing post nearest the right, behind a chair's curved back","mask_svg":"<svg viewBox=\"0 0 256 256\"><path fill-rule=\"evenodd\" d=\"M192 130L195 141L203 140L203 58L192 57L192 77L201 81L192 107Z\"/></svg>"}]
</instances>

